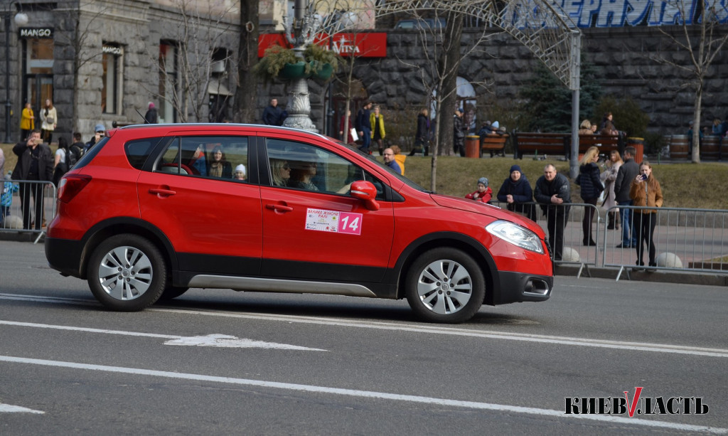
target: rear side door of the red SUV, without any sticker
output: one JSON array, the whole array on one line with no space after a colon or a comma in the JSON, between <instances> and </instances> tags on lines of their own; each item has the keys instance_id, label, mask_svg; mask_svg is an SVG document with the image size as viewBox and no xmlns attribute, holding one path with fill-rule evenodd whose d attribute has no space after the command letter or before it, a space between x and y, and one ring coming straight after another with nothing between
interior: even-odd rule
<instances>
[{"instance_id":1,"label":"rear side door of the red SUV, without any sticker","mask_svg":"<svg viewBox=\"0 0 728 436\"><path fill-rule=\"evenodd\" d=\"M223 162L213 156L223 151ZM178 137L138 180L141 218L160 229L183 271L256 275L262 217L257 184L236 180L248 167L248 138Z\"/></svg>"}]
</instances>

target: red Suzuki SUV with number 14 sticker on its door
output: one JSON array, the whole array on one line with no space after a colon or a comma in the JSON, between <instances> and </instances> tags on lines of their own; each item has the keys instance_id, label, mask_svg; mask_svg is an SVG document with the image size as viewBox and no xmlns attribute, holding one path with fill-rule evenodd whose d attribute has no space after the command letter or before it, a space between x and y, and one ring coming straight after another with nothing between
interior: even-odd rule
<instances>
[{"instance_id":1,"label":"red Suzuki SUV with number 14 sticker on its door","mask_svg":"<svg viewBox=\"0 0 728 436\"><path fill-rule=\"evenodd\" d=\"M117 311L188 288L407 298L422 320L545 301L533 221L422 189L311 132L243 124L111 130L60 181L45 251Z\"/></svg>"}]
</instances>

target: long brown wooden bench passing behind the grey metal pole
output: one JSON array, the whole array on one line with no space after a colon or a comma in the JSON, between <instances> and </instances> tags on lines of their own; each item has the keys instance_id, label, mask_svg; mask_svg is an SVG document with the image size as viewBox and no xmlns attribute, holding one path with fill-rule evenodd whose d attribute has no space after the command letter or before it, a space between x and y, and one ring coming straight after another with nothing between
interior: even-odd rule
<instances>
[{"instance_id":1,"label":"long brown wooden bench passing behind the grey metal pole","mask_svg":"<svg viewBox=\"0 0 728 436\"><path fill-rule=\"evenodd\" d=\"M619 136L579 135L579 154L597 146L600 153L622 151L624 145ZM555 154L571 156L571 133L513 132L513 159L523 159L523 154Z\"/></svg>"}]
</instances>

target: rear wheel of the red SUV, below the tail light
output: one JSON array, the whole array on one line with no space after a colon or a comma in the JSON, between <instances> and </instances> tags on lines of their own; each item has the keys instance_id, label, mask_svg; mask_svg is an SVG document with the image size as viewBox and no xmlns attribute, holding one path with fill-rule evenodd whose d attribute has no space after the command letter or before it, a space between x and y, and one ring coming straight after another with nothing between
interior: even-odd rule
<instances>
[{"instance_id":1,"label":"rear wheel of the red SUV, below the tail light","mask_svg":"<svg viewBox=\"0 0 728 436\"><path fill-rule=\"evenodd\" d=\"M89 259L87 280L93 295L108 309L136 312L162 295L167 266L148 239L118 234L96 247Z\"/></svg>"}]
</instances>

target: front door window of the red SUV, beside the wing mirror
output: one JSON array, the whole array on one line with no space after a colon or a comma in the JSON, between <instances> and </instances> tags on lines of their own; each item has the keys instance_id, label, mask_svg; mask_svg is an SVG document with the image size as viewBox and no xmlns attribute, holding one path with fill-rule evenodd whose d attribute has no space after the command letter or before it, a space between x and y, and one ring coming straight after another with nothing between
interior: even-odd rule
<instances>
[{"instance_id":1,"label":"front door window of the red SUV, beside the wing mirror","mask_svg":"<svg viewBox=\"0 0 728 436\"><path fill-rule=\"evenodd\" d=\"M384 185L363 168L323 148L267 138L266 153L272 186L348 194L352 182L366 180L378 193L384 191Z\"/></svg>"}]
</instances>

